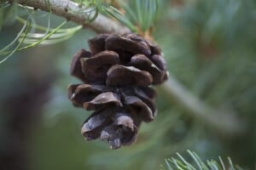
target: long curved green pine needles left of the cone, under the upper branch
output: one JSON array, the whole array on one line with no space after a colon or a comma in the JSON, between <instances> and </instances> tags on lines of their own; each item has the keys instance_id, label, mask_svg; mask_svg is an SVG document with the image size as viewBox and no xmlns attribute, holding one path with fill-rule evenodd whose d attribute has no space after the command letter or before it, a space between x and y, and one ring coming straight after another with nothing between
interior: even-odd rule
<instances>
[{"instance_id":1,"label":"long curved green pine needles left of the cone, under the upper branch","mask_svg":"<svg viewBox=\"0 0 256 170\"><path fill-rule=\"evenodd\" d=\"M46 1L47 3L48 1ZM76 13L86 13L90 18L88 20L94 20L96 18L95 8L91 8L92 4L88 4L88 10L76 11ZM49 8L49 12L50 12ZM21 11L21 12L20 12ZM70 11L73 12L73 11ZM9 4L6 2L1 3L0 6L0 28L6 25L12 20L19 21L23 27L20 32L16 35L12 42L9 42L5 47L0 49L0 64L15 52L21 51L26 48L33 48L38 45L49 45L57 42L63 42L82 29L82 26L73 26L65 29L61 27L67 25L67 21L64 20L59 26L51 28L50 14L41 14L41 18L47 17L47 26L40 26L35 19L37 11L28 7L18 7L17 4ZM91 16L91 14L94 14ZM24 20L20 16L26 15L27 18ZM13 22L13 21L12 21ZM0 29L1 31L1 29Z\"/></svg>"}]
</instances>

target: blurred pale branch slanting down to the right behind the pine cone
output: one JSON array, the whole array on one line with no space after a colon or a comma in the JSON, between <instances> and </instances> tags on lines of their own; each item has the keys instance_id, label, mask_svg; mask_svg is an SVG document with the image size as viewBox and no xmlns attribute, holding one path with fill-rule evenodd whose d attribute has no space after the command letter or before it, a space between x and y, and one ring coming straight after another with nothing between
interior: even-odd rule
<instances>
[{"instance_id":1,"label":"blurred pale branch slanting down to the right behind the pine cone","mask_svg":"<svg viewBox=\"0 0 256 170\"><path fill-rule=\"evenodd\" d=\"M188 89L177 82L175 77L169 75L168 81L160 88L164 98L168 101L176 102L178 105L189 114L195 117L200 122L205 123L216 133L225 137L237 136L245 133L246 125L241 119L236 117L233 111L224 111L213 109L206 105L201 99L198 99L194 94L191 94Z\"/></svg>"}]
</instances>

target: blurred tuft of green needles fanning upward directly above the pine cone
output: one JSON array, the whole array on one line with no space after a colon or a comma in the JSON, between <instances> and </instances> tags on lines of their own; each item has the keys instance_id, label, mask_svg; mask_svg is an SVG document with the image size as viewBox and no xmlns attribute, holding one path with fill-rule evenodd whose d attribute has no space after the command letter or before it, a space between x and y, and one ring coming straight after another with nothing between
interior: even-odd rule
<instances>
[{"instance_id":1,"label":"blurred tuft of green needles fanning upward directly above the pine cone","mask_svg":"<svg viewBox=\"0 0 256 170\"><path fill-rule=\"evenodd\" d=\"M131 31L144 33L154 26L154 21L158 14L158 0L131 0L127 2L116 1L119 8L115 8L106 3L96 3L102 14L107 14Z\"/></svg>"}]
</instances>

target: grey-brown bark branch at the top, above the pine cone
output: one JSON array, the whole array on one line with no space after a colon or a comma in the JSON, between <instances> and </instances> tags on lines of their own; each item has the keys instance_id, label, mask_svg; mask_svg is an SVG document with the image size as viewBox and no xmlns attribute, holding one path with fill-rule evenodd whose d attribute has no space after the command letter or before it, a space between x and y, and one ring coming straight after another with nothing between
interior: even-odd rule
<instances>
[{"instance_id":1,"label":"grey-brown bark branch at the top, above the pine cone","mask_svg":"<svg viewBox=\"0 0 256 170\"><path fill-rule=\"evenodd\" d=\"M69 0L8 0L8 2L19 3L23 6L38 8L56 14L79 25L89 27L96 32L115 32L118 34L129 32L128 28L121 26L118 22L111 20L102 14L98 14L96 20L89 22L89 14L86 13L88 8L84 8L83 6L80 7L78 3L73 3ZM73 11L81 11L83 9L83 14L73 13Z\"/></svg>"}]
</instances>

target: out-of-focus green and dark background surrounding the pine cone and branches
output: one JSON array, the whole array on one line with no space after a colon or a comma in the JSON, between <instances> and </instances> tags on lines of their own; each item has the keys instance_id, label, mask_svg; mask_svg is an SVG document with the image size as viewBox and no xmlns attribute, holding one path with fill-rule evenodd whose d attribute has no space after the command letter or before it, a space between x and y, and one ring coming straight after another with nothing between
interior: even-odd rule
<instances>
[{"instance_id":1,"label":"out-of-focus green and dark background surrounding the pine cone and branches","mask_svg":"<svg viewBox=\"0 0 256 170\"><path fill-rule=\"evenodd\" d=\"M42 18L35 19L44 25ZM52 26L61 22L53 15L50 20ZM1 48L19 30L19 23L7 22ZM84 141L80 126L90 112L67 99L67 85L79 82L69 76L69 63L95 35L83 29L65 42L21 51L0 65L1 169L153 170L176 152L186 157L186 150L203 160L231 156L241 167L256 168L255 1L163 0L153 31L179 82L207 105L236 111L247 122L247 132L236 138L212 133L159 93L158 116L143 123L136 144L110 150L106 143Z\"/></svg>"}]
</instances>

